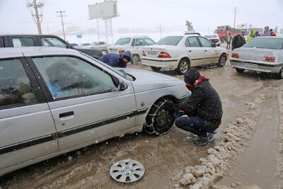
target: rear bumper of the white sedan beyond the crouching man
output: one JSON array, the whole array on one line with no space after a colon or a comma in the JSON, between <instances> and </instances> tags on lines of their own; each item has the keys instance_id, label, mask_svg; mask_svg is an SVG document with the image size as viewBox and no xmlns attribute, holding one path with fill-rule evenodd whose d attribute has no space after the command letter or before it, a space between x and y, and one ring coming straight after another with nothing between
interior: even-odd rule
<instances>
[{"instance_id":1,"label":"rear bumper of the white sedan beyond the crouching man","mask_svg":"<svg viewBox=\"0 0 283 189\"><path fill-rule=\"evenodd\" d=\"M178 59L172 58L148 58L141 57L141 64L151 67L166 67L166 68L177 68L178 67Z\"/></svg>"}]
</instances>

